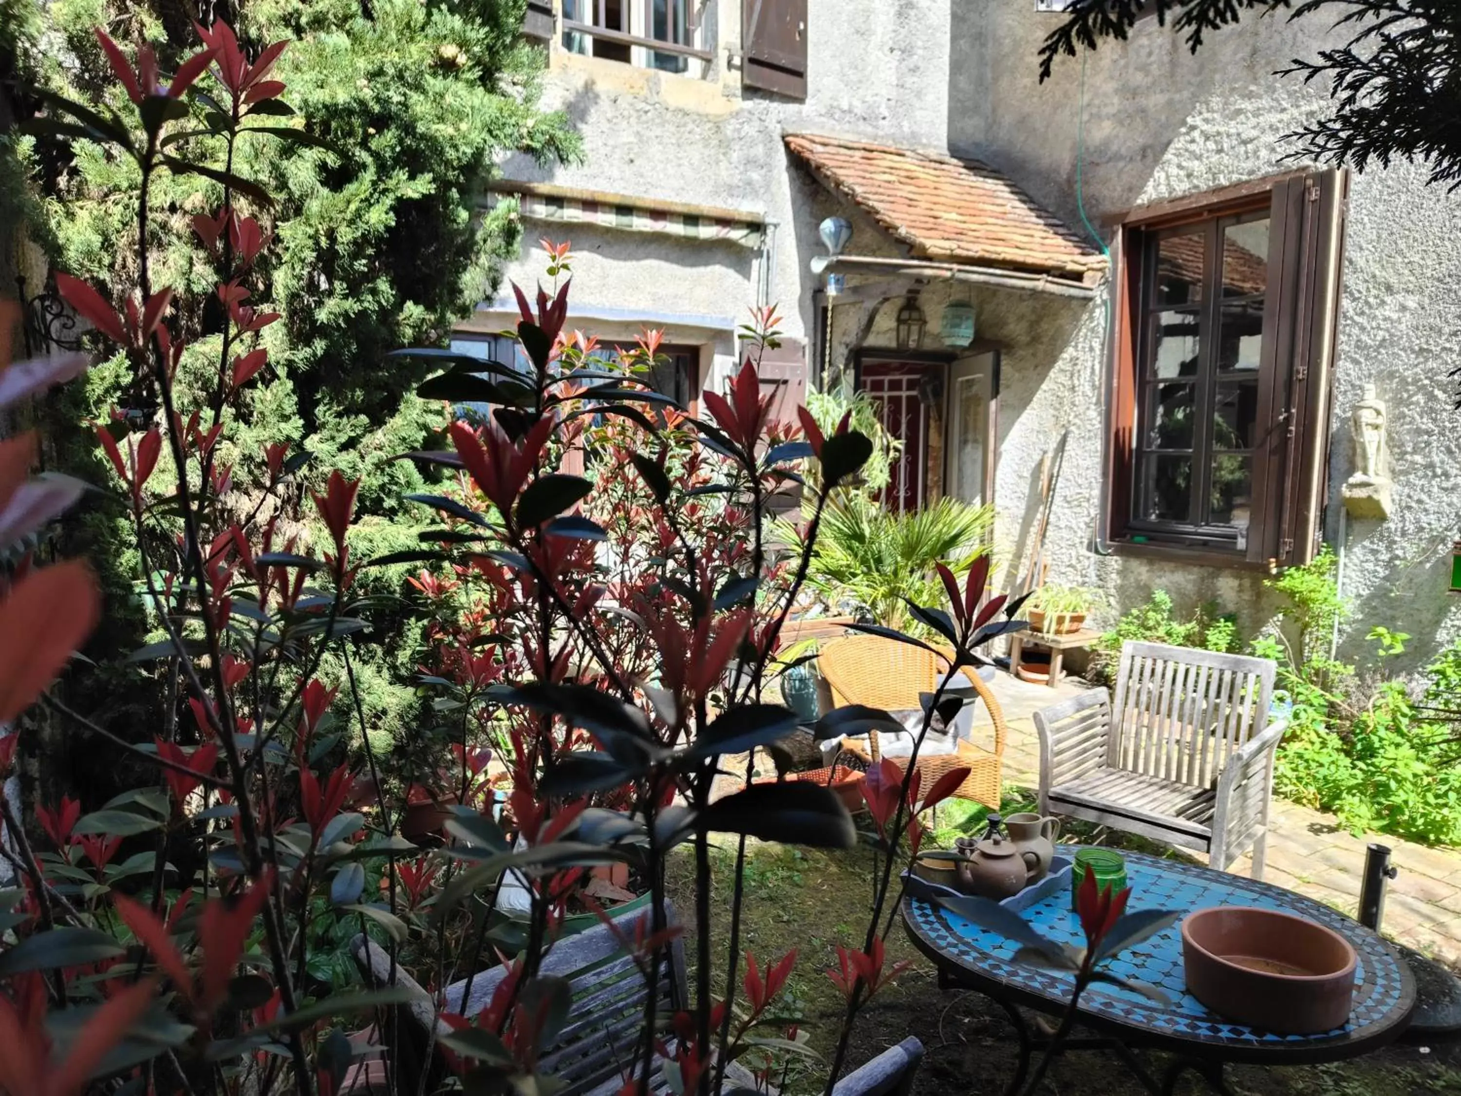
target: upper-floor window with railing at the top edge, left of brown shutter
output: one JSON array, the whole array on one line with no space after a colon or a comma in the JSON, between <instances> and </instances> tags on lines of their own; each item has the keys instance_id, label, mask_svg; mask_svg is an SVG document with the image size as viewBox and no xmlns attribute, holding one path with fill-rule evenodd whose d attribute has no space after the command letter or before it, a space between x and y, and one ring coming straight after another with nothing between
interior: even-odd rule
<instances>
[{"instance_id":1,"label":"upper-floor window with railing at the top edge, left of brown shutter","mask_svg":"<svg viewBox=\"0 0 1461 1096\"><path fill-rule=\"evenodd\" d=\"M701 26L710 0L562 0L562 45L646 69L698 75L713 60Z\"/></svg>"}]
</instances>

